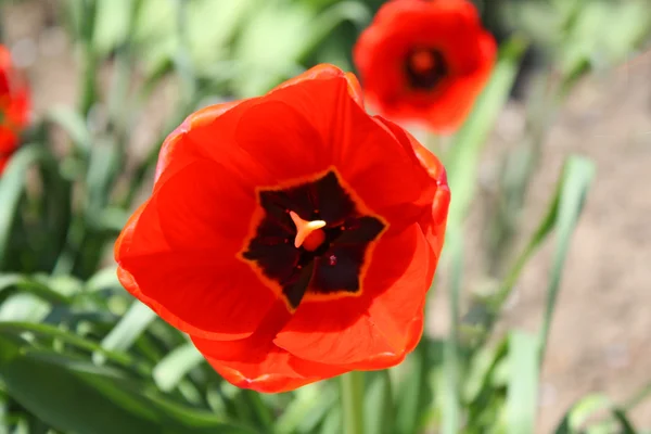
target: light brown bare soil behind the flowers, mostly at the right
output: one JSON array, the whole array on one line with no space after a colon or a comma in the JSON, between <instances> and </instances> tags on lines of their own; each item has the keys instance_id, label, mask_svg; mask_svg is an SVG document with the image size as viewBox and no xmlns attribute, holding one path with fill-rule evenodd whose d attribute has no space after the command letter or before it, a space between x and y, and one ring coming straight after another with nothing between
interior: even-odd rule
<instances>
[{"instance_id":1,"label":"light brown bare soil behind the flowers, mostly at the right","mask_svg":"<svg viewBox=\"0 0 651 434\"><path fill-rule=\"evenodd\" d=\"M7 40L31 79L36 113L72 104L75 62L69 42L46 13L51 1L2 10ZM558 301L539 408L539 433L549 433L579 397L604 392L629 397L651 381L651 53L580 84L554 123L527 204L525 233L547 206L564 157L597 164L597 177L572 242ZM510 104L486 150L516 143L522 108ZM490 182L495 168L482 169ZM529 217L531 216L531 217ZM476 237L475 237L476 238ZM527 265L506 311L509 327L537 330L550 268L548 243ZM441 311L444 297L434 306ZM443 319L445 316L441 316ZM433 332L439 332L434 321ZM633 412L651 427L651 400Z\"/></svg>"}]
</instances>

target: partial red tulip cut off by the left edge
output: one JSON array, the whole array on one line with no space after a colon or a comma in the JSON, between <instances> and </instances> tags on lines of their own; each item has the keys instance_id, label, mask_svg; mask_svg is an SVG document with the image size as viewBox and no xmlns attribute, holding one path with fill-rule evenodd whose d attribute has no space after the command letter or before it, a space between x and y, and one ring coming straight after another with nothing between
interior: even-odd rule
<instances>
[{"instance_id":1,"label":"partial red tulip cut off by the left edge","mask_svg":"<svg viewBox=\"0 0 651 434\"><path fill-rule=\"evenodd\" d=\"M18 79L9 50L0 46L0 174L18 146L28 113L29 91Z\"/></svg>"}]
</instances>

